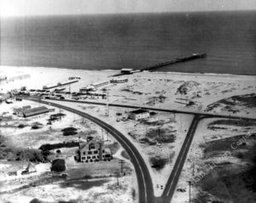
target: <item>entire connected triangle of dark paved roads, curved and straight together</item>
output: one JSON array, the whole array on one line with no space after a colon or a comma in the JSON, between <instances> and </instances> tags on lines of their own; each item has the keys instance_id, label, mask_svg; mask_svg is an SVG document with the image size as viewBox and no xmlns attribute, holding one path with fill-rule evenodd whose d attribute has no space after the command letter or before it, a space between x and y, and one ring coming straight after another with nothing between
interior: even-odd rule
<instances>
[{"instance_id":1,"label":"entire connected triangle of dark paved roads, curved and straight together","mask_svg":"<svg viewBox=\"0 0 256 203\"><path fill-rule=\"evenodd\" d=\"M32 100L35 102L40 102L42 104L49 104L52 106L55 106L57 108L61 108L63 110L71 111L75 114L78 114L79 116L83 116L87 119L90 119L90 121L95 122L97 125L101 126L105 130L108 131L108 133L111 133L114 138L117 139L117 141L124 147L128 155L131 157L131 161L135 167L136 173L137 173L137 182L139 187L139 202L140 203L153 203L153 202L160 202L160 203L170 203L172 201L172 196L174 195L177 182L179 179L179 176L182 172L184 162L186 161L187 155L189 153L189 147L193 141L196 127L198 126L198 123L205 118L211 118L211 117L219 117L219 118L226 118L226 119L243 119L243 120L253 120L256 121L256 118L251 117L242 117L242 116L230 116L230 115L217 115L217 114L211 114L211 113L205 113L205 112L195 112L195 111L185 111L185 110L166 110L166 109L157 109L157 108L151 108L151 107L143 107L143 109L146 110L157 110L157 111L165 111L170 112L174 114L189 114L194 115L193 121L191 122L191 125L189 127L189 131L186 135L186 138L184 139L182 148L179 152L179 155L177 156L177 161L175 165L173 166L172 173L170 177L168 178L168 181L166 183L166 187L164 189L163 194L160 198L154 197L154 189L152 184L152 179L150 177L150 174L148 172L148 167L146 166L145 162L143 161L142 155L140 155L139 151L136 149L136 147L131 144L128 138L125 138L125 136L122 133L119 133L118 130L116 130L114 127L108 125L108 123L94 117L90 116L89 114L86 114L79 110L74 110L70 107L67 107L65 105L56 104L54 103L55 100L61 101L60 99L51 99L50 100L42 100L42 99L35 99L35 98L24 98L28 100ZM105 103L98 103L98 102L86 102L86 101L74 101L74 100L67 100L67 102L75 102L75 103L84 103L84 104L99 104L99 105L106 105ZM116 106L121 108L132 108L137 109L141 108L140 106L131 106L131 105L123 105L123 104L108 104L109 106Z\"/></svg>"}]
</instances>

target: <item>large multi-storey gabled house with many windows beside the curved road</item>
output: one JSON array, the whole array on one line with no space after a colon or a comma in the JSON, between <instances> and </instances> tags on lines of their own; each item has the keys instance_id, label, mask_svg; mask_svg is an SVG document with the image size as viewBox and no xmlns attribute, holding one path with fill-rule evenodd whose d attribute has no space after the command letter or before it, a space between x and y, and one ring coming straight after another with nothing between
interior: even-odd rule
<instances>
[{"instance_id":1,"label":"large multi-storey gabled house with many windows beside the curved road","mask_svg":"<svg viewBox=\"0 0 256 203\"><path fill-rule=\"evenodd\" d=\"M112 155L102 141L88 140L86 143L79 143L79 154L75 159L80 162L110 161Z\"/></svg>"}]
</instances>

